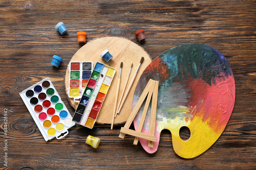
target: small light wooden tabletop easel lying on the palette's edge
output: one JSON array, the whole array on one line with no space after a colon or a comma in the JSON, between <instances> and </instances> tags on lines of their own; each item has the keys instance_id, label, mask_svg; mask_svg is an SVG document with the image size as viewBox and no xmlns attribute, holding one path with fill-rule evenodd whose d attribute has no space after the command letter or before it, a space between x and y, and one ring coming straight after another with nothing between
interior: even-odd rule
<instances>
[{"instance_id":1,"label":"small light wooden tabletop easel lying on the palette's edge","mask_svg":"<svg viewBox=\"0 0 256 170\"><path fill-rule=\"evenodd\" d=\"M158 81L150 79L143 90L139 100L137 101L134 109L132 110L132 113L130 114L128 120L126 121L124 127L121 127L120 130L120 138L124 138L125 134L135 136L133 145L137 145L138 139L143 138L148 140L148 146L153 148L154 142L156 141L156 136L154 136L155 133L155 122L156 122L156 107L157 107L157 94L158 94ZM153 96L152 96L153 95ZM129 129L129 127L132 124L133 119L135 118L137 112L139 111L143 101L146 99L146 103L141 115L140 124L138 126L137 131ZM145 121L145 117L147 114L148 106L150 103L152 97L152 105L151 105L151 115L150 115L150 128L149 128L149 134L142 133L142 127L143 123Z\"/></svg>"}]
</instances>

